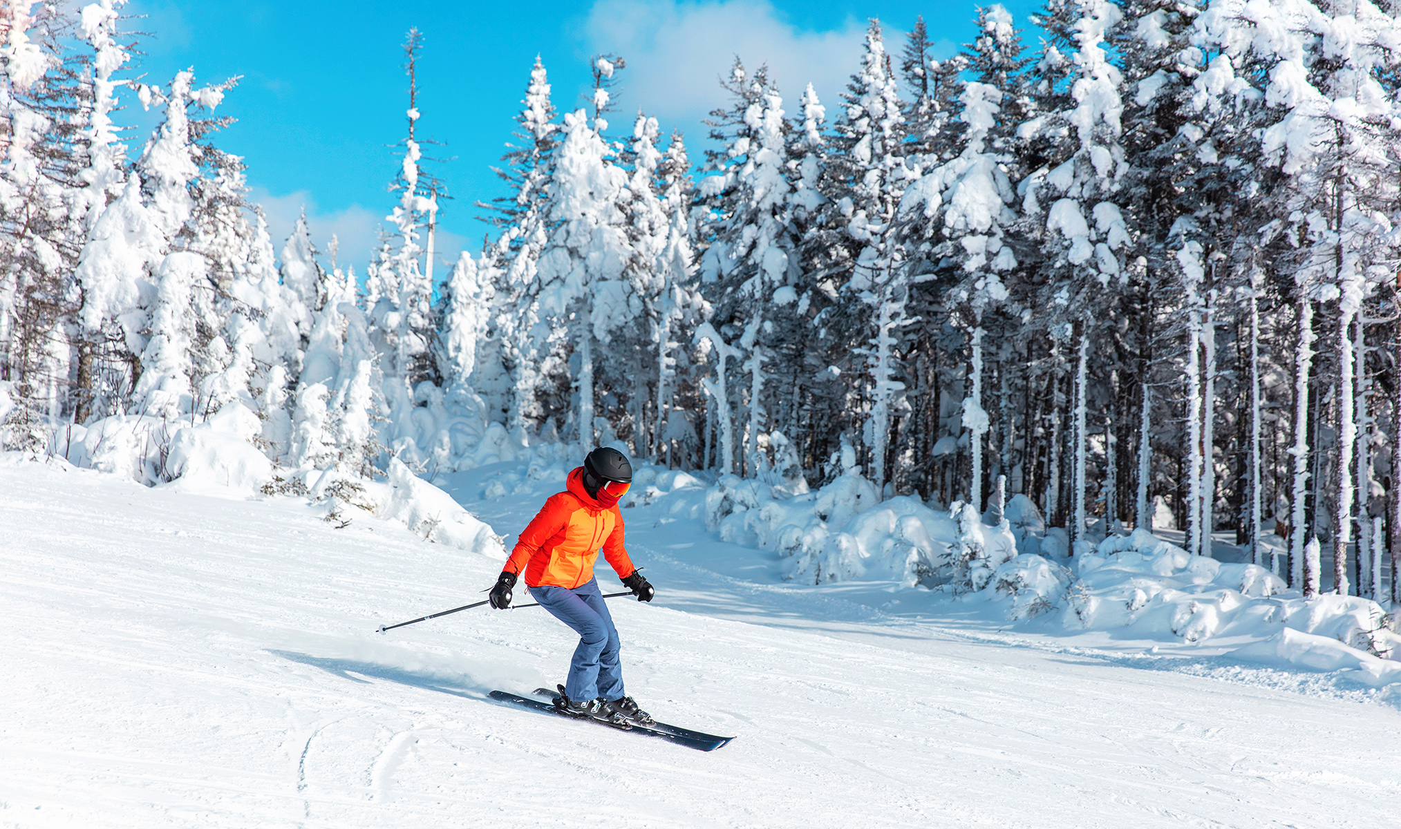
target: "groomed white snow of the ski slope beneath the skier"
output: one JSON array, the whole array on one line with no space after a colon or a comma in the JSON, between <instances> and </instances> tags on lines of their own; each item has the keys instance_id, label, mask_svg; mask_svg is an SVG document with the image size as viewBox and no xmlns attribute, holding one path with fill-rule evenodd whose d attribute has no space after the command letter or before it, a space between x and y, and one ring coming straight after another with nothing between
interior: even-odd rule
<instances>
[{"instance_id":1,"label":"groomed white snow of the ski slope beneath the skier","mask_svg":"<svg viewBox=\"0 0 1401 829\"><path fill-rule=\"evenodd\" d=\"M556 473L443 485L510 545ZM629 693L736 735L709 753L485 699L562 678L539 609L374 633L500 567L402 522L13 457L0 493L0 826L1374 826L1401 795L1386 690L786 584L698 483L625 511L658 595L611 606Z\"/></svg>"}]
</instances>

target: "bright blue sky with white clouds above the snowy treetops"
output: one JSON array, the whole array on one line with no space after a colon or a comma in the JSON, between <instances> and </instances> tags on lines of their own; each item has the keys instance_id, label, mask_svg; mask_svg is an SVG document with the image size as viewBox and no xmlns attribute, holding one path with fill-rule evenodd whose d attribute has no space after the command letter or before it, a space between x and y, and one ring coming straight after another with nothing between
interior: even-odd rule
<instances>
[{"instance_id":1,"label":"bright blue sky with white clouds above the snowy treetops","mask_svg":"<svg viewBox=\"0 0 1401 829\"><path fill-rule=\"evenodd\" d=\"M1026 25L1038 3L1005 6ZM811 81L835 115L856 69L869 17L881 20L894 53L915 17L946 52L972 36L975 3L934 0L595 0L594 3L430 3L423 0L132 0L126 29L150 32L139 59L147 83L164 84L188 66L200 81L242 76L220 112L233 125L219 144L248 162L254 197L272 218L280 249L305 206L314 241L340 237L342 260L363 267L375 227L392 207L385 192L405 134L408 80L402 42L425 34L419 67L420 137L440 140L437 165L454 196L441 211L448 258L476 248L488 225L476 200L503 190L490 167L510 140L530 67L545 62L559 109L581 105L587 59L616 52L621 77L615 130L639 108L664 132L685 132L692 158L705 146L700 119L723 104L717 76L738 53L768 63L785 98ZM1034 46L1034 38L1027 38ZM136 144L139 141L133 141ZM133 151L136 147L133 147ZM471 241L468 241L471 239Z\"/></svg>"}]
</instances>

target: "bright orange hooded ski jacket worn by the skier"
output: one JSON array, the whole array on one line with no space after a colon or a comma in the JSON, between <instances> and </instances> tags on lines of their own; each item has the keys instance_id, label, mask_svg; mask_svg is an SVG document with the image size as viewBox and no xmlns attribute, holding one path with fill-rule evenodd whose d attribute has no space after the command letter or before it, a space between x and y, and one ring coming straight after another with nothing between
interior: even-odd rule
<instances>
[{"instance_id":1,"label":"bright orange hooded ski jacket worn by the skier","mask_svg":"<svg viewBox=\"0 0 1401 829\"><path fill-rule=\"evenodd\" d=\"M549 496L530 525L521 531L504 570L525 576L525 587L587 584L602 546L604 559L619 578L636 571L623 549L622 513L618 503L601 503L584 489L584 468L569 473L565 492Z\"/></svg>"}]
</instances>

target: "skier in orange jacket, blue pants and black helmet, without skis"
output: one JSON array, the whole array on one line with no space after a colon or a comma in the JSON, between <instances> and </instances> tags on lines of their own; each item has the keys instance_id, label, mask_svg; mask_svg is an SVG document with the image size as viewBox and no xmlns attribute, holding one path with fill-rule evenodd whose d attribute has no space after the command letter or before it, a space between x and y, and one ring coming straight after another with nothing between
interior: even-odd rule
<instances>
[{"instance_id":1,"label":"skier in orange jacket, blue pants and black helmet, without skis","mask_svg":"<svg viewBox=\"0 0 1401 829\"><path fill-rule=\"evenodd\" d=\"M611 447L588 452L584 465L569 473L565 492L549 496L521 531L492 587L490 604L509 608L511 588L524 576L530 595L579 634L569 679L555 700L563 713L650 724L651 717L623 693L618 629L594 577L602 545L604 559L639 602L650 602L656 592L623 546L618 499L630 485L626 455Z\"/></svg>"}]
</instances>

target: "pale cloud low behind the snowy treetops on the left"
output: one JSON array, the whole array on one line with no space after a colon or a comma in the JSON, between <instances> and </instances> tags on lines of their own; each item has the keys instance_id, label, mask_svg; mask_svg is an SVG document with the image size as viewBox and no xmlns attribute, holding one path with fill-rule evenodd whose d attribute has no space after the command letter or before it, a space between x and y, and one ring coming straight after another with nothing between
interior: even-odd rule
<instances>
[{"instance_id":1,"label":"pale cloud low behind the snowy treetops on the left","mask_svg":"<svg viewBox=\"0 0 1401 829\"><path fill-rule=\"evenodd\" d=\"M255 186L248 193L248 202L262 204L275 252L282 252L287 237L291 235L291 228L297 224L297 217L305 209L311 244L322 253L322 265L331 265L328 251L333 234L340 242L338 262L342 266L353 266L361 277L364 266L370 262L370 253L380 245L380 227L388 224L381 211L359 204L352 204L345 210L321 213L315 197L308 190L275 196L268 189ZM434 259L437 260L433 269L434 281L447 277L447 267L451 267L453 262L457 260L465 242L467 239L458 234L439 228L434 238Z\"/></svg>"}]
</instances>

